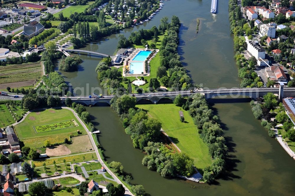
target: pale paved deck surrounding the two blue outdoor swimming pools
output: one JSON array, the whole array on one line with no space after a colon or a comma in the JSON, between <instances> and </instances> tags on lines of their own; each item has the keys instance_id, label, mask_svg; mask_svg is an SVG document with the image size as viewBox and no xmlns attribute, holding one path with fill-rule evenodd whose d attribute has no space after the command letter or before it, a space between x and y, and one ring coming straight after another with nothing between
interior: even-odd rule
<instances>
[{"instance_id":1,"label":"pale paved deck surrounding the two blue outdoor swimming pools","mask_svg":"<svg viewBox=\"0 0 295 196\"><path fill-rule=\"evenodd\" d=\"M128 76L150 76L150 61L153 59L153 57L155 57L155 55L159 52L158 49L149 49L150 51L155 50L155 53L153 54L153 56L148 60L148 72L145 71L145 61L133 61L132 59L140 52L140 51L145 51L144 48L137 48L134 52L132 52L132 54L127 57L125 59L124 66L126 66L127 62L128 64L132 63L132 62L143 62L143 74L130 74L130 73L122 73L123 77L128 77ZM124 70L124 69L123 69Z\"/></svg>"}]
</instances>

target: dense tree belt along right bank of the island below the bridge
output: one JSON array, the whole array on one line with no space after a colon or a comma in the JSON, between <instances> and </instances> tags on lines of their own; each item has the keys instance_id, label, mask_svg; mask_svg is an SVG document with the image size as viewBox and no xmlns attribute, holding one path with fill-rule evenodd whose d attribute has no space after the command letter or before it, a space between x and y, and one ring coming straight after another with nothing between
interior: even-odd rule
<instances>
[{"instance_id":1,"label":"dense tree belt along right bank of the island below the bridge","mask_svg":"<svg viewBox=\"0 0 295 196\"><path fill-rule=\"evenodd\" d=\"M219 124L219 118L213 114L204 95L196 93L191 95L186 102L183 101L180 100L177 104L180 105L182 102L182 108L189 111L199 129L199 135L208 145L209 154L213 159L212 165L204 169L203 175L205 182L210 183L224 171L228 150Z\"/></svg>"}]
</instances>

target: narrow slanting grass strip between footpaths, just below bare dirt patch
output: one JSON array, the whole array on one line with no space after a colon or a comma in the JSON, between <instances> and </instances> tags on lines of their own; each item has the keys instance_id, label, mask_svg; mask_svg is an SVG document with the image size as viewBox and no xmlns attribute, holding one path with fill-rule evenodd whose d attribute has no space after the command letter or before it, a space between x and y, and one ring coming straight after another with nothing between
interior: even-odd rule
<instances>
[{"instance_id":1,"label":"narrow slanting grass strip between footpaths, just below bare dirt patch","mask_svg":"<svg viewBox=\"0 0 295 196\"><path fill-rule=\"evenodd\" d=\"M40 161L33 161L33 163L36 165L36 167L41 167L43 163L45 163L46 165L53 165L53 161L55 161L56 164L63 163L63 159L65 159L66 162L71 162L71 163L73 163L73 159L75 159L75 163L79 163L79 162L83 162L83 156L85 157L85 161L92 160L92 155L94 156L94 159L97 159L95 152L93 152L93 153L72 155L68 157L60 157L55 159L44 159Z\"/></svg>"}]
</instances>

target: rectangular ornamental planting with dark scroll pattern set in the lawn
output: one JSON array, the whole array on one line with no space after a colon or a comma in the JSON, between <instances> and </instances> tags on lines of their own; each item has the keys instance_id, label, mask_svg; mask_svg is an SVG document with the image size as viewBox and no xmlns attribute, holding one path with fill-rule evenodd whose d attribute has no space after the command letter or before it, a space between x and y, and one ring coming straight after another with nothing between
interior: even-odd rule
<instances>
[{"instance_id":1,"label":"rectangular ornamental planting with dark scroll pattern set in the lawn","mask_svg":"<svg viewBox=\"0 0 295 196\"><path fill-rule=\"evenodd\" d=\"M50 123L46 125L41 126L34 126L34 129L36 132L43 132L43 131L52 131L52 130L58 130L58 129L65 129L70 127L77 127L79 126L78 123L74 119L58 122L58 123Z\"/></svg>"}]
</instances>

